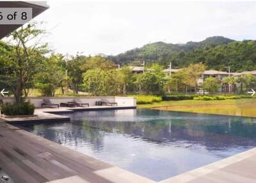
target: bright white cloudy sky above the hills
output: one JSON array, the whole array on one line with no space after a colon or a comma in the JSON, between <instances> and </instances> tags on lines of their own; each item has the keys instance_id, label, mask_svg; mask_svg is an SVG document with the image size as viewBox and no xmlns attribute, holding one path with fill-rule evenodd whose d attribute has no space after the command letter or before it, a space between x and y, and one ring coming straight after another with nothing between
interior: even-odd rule
<instances>
[{"instance_id":1,"label":"bright white cloudy sky above the hills","mask_svg":"<svg viewBox=\"0 0 256 183\"><path fill-rule=\"evenodd\" d=\"M47 1L51 49L62 54L119 54L152 42L209 36L256 39L256 1Z\"/></svg>"}]
</instances>

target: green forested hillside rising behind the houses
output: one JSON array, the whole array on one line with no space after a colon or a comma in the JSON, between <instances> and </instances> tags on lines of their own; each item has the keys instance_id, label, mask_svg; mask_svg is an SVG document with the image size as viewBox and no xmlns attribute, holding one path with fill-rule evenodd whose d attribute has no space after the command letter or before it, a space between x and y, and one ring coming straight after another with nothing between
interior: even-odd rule
<instances>
[{"instance_id":1,"label":"green forested hillside rising behind the houses","mask_svg":"<svg viewBox=\"0 0 256 183\"><path fill-rule=\"evenodd\" d=\"M157 62L167 67L172 61L173 68L186 67L190 63L205 63L208 68L231 71L256 69L256 42L230 40L222 36L206 38L202 42L166 44L156 42L132 49L116 56L109 56L115 63L126 65L138 61Z\"/></svg>"}]
</instances>

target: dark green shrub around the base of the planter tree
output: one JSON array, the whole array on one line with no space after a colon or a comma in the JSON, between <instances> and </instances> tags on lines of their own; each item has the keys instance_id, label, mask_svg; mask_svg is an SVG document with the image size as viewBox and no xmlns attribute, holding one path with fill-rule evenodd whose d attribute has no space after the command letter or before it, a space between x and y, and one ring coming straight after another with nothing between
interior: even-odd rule
<instances>
[{"instance_id":1,"label":"dark green shrub around the base of the planter tree","mask_svg":"<svg viewBox=\"0 0 256 183\"><path fill-rule=\"evenodd\" d=\"M30 102L16 103L4 103L1 105L1 113L8 116L15 115L33 115L35 106Z\"/></svg>"}]
</instances>

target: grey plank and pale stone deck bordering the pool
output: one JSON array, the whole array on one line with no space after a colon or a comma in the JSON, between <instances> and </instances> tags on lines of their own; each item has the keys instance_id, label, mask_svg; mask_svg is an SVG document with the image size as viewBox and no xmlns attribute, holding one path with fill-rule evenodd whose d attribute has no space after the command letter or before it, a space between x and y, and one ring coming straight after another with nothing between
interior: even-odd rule
<instances>
[{"instance_id":1,"label":"grey plank and pale stone deck bordering the pool","mask_svg":"<svg viewBox=\"0 0 256 183\"><path fill-rule=\"evenodd\" d=\"M52 112L72 111L70 108L63 107L60 109L36 109L35 113L38 115L38 120L61 118L61 115L52 114ZM65 119L67 117L62 117L63 120L67 120ZM0 173L4 172L10 176L11 180L8 181L10 183L155 182L24 131L11 125L15 120L17 118L9 121L0 118ZM160 182L256 183L255 167L256 148L253 148Z\"/></svg>"}]
</instances>

